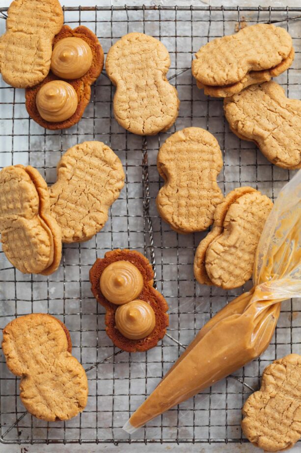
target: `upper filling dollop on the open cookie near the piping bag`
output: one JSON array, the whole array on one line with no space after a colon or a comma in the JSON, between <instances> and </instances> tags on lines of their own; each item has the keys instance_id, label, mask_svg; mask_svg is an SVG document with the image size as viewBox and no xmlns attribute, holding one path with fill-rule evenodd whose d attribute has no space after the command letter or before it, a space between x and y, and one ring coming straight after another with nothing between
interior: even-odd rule
<instances>
[{"instance_id":1,"label":"upper filling dollop on the open cookie near the piping bag","mask_svg":"<svg viewBox=\"0 0 301 453\"><path fill-rule=\"evenodd\" d=\"M112 262L100 277L101 292L109 302L116 305L127 304L136 299L142 289L141 272L129 261Z\"/></svg>"}]
</instances>

